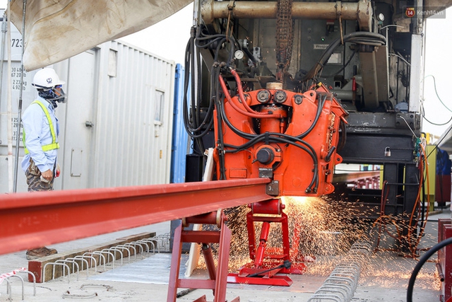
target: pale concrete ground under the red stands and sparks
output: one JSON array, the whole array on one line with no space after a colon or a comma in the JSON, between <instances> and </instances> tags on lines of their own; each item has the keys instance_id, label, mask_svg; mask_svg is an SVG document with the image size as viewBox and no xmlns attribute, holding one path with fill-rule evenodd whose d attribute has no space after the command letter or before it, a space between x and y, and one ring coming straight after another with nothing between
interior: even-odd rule
<instances>
[{"instance_id":1,"label":"pale concrete ground under the red stands and sparks","mask_svg":"<svg viewBox=\"0 0 452 302\"><path fill-rule=\"evenodd\" d=\"M427 230L420 242L420 248L430 248L437 243L437 221L439 218L451 218L449 209L436 211L429 216ZM83 246L107 242L120 237L143 232L156 232L157 235L169 232L169 222L158 223L152 226L133 228L127 231L109 233L93 238L85 238L67 243L52 245L59 252L79 249ZM184 257L186 257L184 255ZM294 281L292 286L255 286L249 284L228 284L227 300L239 296L240 301L247 302L287 302L308 301L314 292L319 289L323 281L333 269L332 263L340 260L337 257L323 255L317 257L316 262L308 265L308 271L302 275L290 275ZM133 258L133 257L132 257ZM184 261L182 262L184 263ZM399 257L391 250L380 250L370 255L362 265L362 273L355 290L352 301L378 302L378 301L406 301L406 288L412 269L417 260L408 257ZM25 251L0 256L0 275L11 272L19 267L27 267ZM23 287L23 301L166 301L167 283L170 267L170 254L165 252L155 255L138 255L130 263L124 259L107 267L98 267L97 272L90 269L78 274L71 274L44 284L36 284L36 294L33 295L33 284L25 281ZM326 269L324 269L326 267ZM184 268L182 268L183 274ZM434 263L428 262L422 268L415 283L413 301L439 301L439 281L435 277ZM26 280L26 275L20 273ZM194 277L205 276L203 271L196 271ZM0 301L21 301L22 286L18 278L11 278L11 293L8 293L6 281L0 284ZM182 291L182 289L179 289ZM212 291L196 289L177 299L178 302L194 301L206 295L207 301L213 301Z\"/></svg>"}]
</instances>

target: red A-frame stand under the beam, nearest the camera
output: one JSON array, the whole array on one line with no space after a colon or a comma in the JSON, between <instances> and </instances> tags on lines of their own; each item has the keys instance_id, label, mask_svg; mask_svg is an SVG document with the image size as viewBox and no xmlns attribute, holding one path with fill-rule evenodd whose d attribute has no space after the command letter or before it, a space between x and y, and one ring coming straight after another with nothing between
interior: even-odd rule
<instances>
[{"instance_id":1,"label":"red A-frame stand under the beam, nearest the camera","mask_svg":"<svg viewBox=\"0 0 452 302\"><path fill-rule=\"evenodd\" d=\"M174 231L167 302L176 302L178 288L212 289L215 302L226 302L227 264L229 262L231 231L227 228L225 221L226 217L222 210L182 219L182 224ZM220 231L184 230L190 223L216 224ZM179 279L182 243L201 243L203 245L203 256L206 260L209 279ZM218 268L215 268L215 263L213 262L210 243L220 243L218 248ZM231 302L239 301L240 299L237 297ZM195 302L206 302L206 296L201 296Z\"/></svg>"}]
</instances>

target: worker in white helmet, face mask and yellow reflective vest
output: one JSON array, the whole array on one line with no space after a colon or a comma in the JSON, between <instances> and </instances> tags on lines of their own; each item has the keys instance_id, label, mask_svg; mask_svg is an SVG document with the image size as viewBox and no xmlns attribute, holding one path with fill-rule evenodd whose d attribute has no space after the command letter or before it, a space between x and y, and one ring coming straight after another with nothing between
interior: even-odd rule
<instances>
[{"instance_id":1,"label":"worker in white helmet, face mask and yellow reflective vest","mask_svg":"<svg viewBox=\"0 0 452 302\"><path fill-rule=\"evenodd\" d=\"M59 124L55 116L57 103L64 103L66 95L61 85L64 81L52 68L43 68L33 77L37 98L23 112L23 145L28 192L54 190L54 178L59 175L57 149ZM35 248L27 251L27 259L56 254L52 248Z\"/></svg>"}]
</instances>

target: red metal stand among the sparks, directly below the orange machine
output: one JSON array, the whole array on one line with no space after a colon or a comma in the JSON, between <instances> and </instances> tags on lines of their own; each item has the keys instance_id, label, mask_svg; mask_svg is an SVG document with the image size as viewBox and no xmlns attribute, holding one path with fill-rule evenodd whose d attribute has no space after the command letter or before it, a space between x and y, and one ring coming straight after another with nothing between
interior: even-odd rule
<instances>
[{"instance_id":1,"label":"red metal stand among the sparks, directly below the orange machine","mask_svg":"<svg viewBox=\"0 0 452 302\"><path fill-rule=\"evenodd\" d=\"M297 263L292 265L290 260L290 240L287 214L283 212L285 205L280 199L271 199L265 202L255 202L250 205L251 211L246 215L248 228L249 256L254 262L243 267L238 274L228 274L227 282L240 284L257 284L272 286L290 286L292 279L280 274L302 274L306 265ZM254 222L262 222L261 236L256 250ZM283 233L283 249L267 248L270 223L281 223ZM298 247L298 238L296 238Z\"/></svg>"}]
</instances>

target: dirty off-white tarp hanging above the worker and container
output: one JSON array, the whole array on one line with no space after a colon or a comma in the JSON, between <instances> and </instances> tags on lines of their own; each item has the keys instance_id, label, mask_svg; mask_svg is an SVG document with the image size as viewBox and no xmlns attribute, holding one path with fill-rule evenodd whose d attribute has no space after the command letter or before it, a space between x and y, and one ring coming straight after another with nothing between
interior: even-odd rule
<instances>
[{"instance_id":1,"label":"dirty off-white tarp hanging above the worker and container","mask_svg":"<svg viewBox=\"0 0 452 302\"><path fill-rule=\"evenodd\" d=\"M25 70L47 66L102 42L148 28L193 0L28 0ZM23 0L12 0L11 21L22 30ZM151 37L150 37L151 38Z\"/></svg>"}]
</instances>

